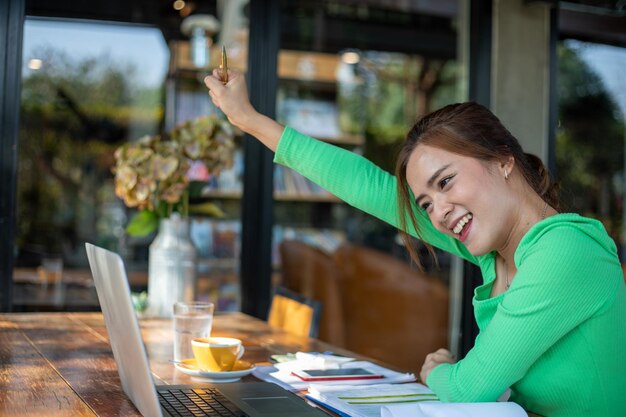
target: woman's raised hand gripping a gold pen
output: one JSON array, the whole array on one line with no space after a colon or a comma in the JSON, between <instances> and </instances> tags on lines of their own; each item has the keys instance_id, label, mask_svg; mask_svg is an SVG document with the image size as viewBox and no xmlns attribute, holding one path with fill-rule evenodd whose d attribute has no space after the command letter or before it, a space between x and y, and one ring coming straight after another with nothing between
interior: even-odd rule
<instances>
[{"instance_id":1,"label":"woman's raised hand gripping a gold pen","mask_svg":"<svg viewBox=\"0 0 626 417\"><path fill-rule=\"evenodd\" d=\"M246 79L239 71L228 70L228 83L224 85L220 70L204 78L213 104L220 108L228 120L244 132L250 133L252 120L258 115L250 104Z\"/></svg>"}]
</instances>

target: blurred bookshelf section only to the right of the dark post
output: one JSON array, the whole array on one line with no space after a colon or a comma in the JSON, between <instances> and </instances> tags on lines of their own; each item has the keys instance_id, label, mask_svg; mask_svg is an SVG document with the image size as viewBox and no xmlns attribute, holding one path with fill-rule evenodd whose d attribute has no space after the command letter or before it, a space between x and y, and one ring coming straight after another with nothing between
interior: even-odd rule
<instances>
[{"instance_id":1,"label":"blurred bookshelf section only to the right of the dark post","mask_svg":"<svg viewBox=\"0 0 626 417\"><path fill-rule=\"evenodd\" d=\"M306 135L362 153L365 123L345 123L350 110L342 78L345 69L338 54L281 50L277 120ZM361 97L357 106L363 103ZM327 252L348 240L351 208L289 168L274 168L274 201L280 203L274 205L274 265L281 263L277 248L284 239L301 240Z\"/></svg>"}]
</instances>

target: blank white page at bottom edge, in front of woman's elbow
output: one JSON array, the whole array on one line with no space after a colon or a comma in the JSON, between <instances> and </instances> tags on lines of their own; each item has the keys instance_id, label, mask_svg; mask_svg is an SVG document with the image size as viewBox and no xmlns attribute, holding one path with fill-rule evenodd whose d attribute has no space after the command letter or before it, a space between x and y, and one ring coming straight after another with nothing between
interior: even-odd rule
<instances>
[{"instance_id":1,"label":"blank white page at bottom edge, in front of woman's elbow","mask_svg":"<svg viewBox=\"0 0 626 417\"><path fill-rule=\"evenodd\" d=\"M528 417L516 403L419 403L385 405L380 417Z\"/></svg>"}]
</instances>

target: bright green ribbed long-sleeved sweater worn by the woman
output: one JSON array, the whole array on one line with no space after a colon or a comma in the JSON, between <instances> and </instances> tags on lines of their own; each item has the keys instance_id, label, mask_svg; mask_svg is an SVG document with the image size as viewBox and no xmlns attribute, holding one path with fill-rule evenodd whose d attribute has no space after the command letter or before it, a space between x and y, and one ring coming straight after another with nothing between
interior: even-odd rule
<instances>
[{"instance_id":1,"label":"bright green ribbed long-sleeved sweater worn by the woman","mask_svg":"<svg viewBox=\"0 0 626 417\"><path fill-rule=\"evenodd\" d=\"M365 158L287 127L274 160L398 226L396 179ZM511 287L490 298L495 252L472 256L417 217L421 239L483 275L473 298L474 347L427 380L443 401L495 401L510 387L512 401L546 417L626 416L626 288L601 223L558 214L534 225L515 252Z\"/></svg>"}]
</instances>

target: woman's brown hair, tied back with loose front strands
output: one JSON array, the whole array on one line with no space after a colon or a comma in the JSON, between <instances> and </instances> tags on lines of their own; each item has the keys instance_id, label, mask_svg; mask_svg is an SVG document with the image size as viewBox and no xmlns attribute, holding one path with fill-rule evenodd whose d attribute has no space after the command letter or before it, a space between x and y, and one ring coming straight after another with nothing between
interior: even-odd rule
<instances>
[{"instance_id":1,"label":"woman's brown hair, tied back with loose front strands","mask_svg":"<svg viewBox=\"0 0 626 417\"><path fill-rule=\"evenodd\" d=\"M413 200L406 178L409 157L419 144L444 149L483 161L502 160L510 156L524 179L551 207L559 210L558 185L537 156L525 153L515 137L486 107L469 102L450 104L423 116L406 136L396 163L398 179L398 215L400 232L411 259L422 269L415 242L408 234L409 222L418 237L416 212L425 215ZM432 247L428 250L434 257Z\"/></svg>"}]
</instances>

